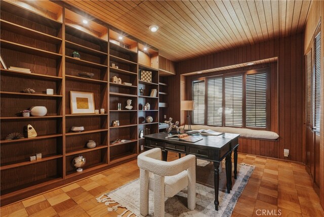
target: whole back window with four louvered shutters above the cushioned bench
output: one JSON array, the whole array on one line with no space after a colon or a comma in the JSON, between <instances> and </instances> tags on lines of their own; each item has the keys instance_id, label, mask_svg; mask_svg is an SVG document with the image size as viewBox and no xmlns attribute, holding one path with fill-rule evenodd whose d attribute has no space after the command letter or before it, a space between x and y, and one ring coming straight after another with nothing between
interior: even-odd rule
<instances>
[{"instance_id":1,"label":"whole back window with four louvered shutters above the cushioned bench","mask_svg":"<svg viewBox=\"0 0 324 217\"><path fill-rule=\"evenodd\" d=\"M192 100L196 107L192 123L268 129L268 71L266 68L193 81Z\"/></svg>"}]
</instances>

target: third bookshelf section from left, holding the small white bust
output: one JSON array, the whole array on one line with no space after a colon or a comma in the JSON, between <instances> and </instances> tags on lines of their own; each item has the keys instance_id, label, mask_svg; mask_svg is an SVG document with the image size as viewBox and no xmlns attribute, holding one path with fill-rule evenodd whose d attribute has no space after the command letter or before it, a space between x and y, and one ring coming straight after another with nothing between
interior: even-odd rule
<instances>
[{"instance_id":1,"label":"third bookshelf section from left, holding the small white bust","mask_svg":"<svg viewBox=\"0 0 324 217\"><path fill-rule=\"evenodd\" d=\"M109 163L120 162L138 154L137 46L135 40L123 33L109 30L109 124L114 120L119 121L119 126L110 126ZM118 78L119 82L114 78ZM132 100L133 108L130 110L125 108L127 100ZM121 105L120 110L118 104ZM128 142L116 145L116 140Z\"/></svg>"}]
</instances>

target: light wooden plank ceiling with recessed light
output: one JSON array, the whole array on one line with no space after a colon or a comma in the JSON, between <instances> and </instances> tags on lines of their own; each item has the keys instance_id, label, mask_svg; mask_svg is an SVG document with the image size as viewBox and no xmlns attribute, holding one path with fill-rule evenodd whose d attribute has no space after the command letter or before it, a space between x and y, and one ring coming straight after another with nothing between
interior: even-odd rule
<instances>
[{"instance_id":1,"label":"light wooden plank ceiling with recessed light","mask_svg":"<svg viewBox=\"0 0 324 217\"><path fill-rule=\"evenodd\" d=\"M65 1L172 61L302 32L311 1ZM157 32L148 27L157 25Z\"/></svg>"}]
</instances>

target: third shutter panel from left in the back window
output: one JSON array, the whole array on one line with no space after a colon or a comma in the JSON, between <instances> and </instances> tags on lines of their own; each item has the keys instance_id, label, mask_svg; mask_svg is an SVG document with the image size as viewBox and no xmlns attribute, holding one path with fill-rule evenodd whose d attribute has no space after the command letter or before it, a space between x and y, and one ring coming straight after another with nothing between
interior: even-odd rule
<instances>
[{"instance_id":1,"label":"third shutter panel from left in the back window","mask_svg":"<svg viewBox=\"0 0 324 217\"><path fill-rule=\"evenodd\" d=\"M242 126L242 75L225 77L225 125Z\"/></svg>"}]
</instances>

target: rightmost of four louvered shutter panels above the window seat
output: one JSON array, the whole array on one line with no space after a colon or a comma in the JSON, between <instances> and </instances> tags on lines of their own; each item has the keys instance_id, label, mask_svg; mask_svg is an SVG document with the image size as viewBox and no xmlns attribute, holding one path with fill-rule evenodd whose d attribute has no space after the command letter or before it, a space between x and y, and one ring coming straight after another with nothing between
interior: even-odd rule
<instances>
[{"instance_id":1,"label":"rightmost of four louvered shutter panels above the window seat","mask_svg":"<svg viewBox=\"0 0 324 217\"><path fill-rule=\"evenodd\" d=\"M248 74L246 81L246 126L266 127L267 74Z\"/></svg>"}]
</instances>

